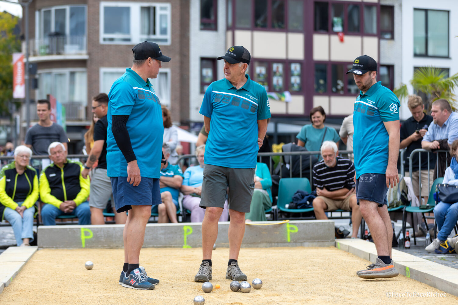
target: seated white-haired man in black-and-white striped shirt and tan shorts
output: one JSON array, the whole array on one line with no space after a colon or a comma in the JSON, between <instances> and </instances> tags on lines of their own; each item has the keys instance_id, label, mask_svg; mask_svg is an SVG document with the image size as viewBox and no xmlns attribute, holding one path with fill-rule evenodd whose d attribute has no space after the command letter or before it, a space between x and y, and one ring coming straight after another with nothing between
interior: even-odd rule
<instances>
[{"instance_id":1,"label":"seated white-haired man in black-and-white striped shirt and tan shorts","mask_svg":"<svg viewBox=\"0 0 458 305\"><path fill-rule=\"evenodd\" d=\"M321 145L322 161L313 166L313 211L316 219L327 219L325 212L343 209L351 211L352 238L358 237L361 223L360 207L356 204L354 192L354 165L349 159L338 156L338 148L333 141Z\"/></svg>"}]
</instances>

